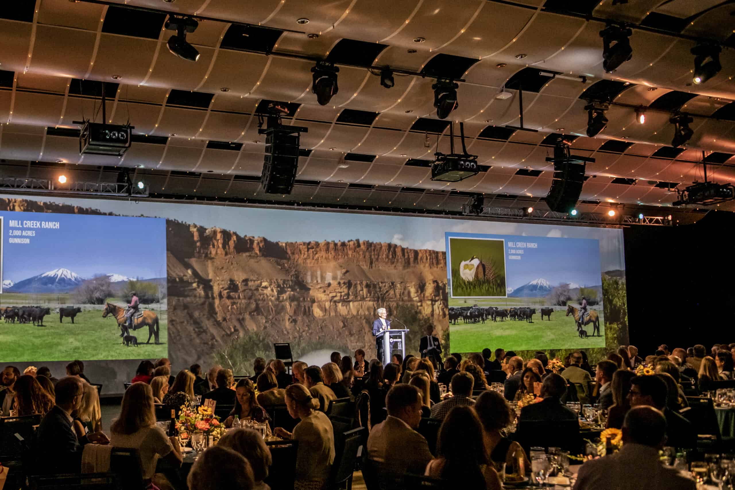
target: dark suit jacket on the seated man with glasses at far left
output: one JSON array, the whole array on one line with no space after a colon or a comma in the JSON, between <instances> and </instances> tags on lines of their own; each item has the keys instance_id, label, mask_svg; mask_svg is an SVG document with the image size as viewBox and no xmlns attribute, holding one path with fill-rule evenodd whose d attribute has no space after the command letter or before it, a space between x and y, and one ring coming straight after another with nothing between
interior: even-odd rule
<instances>
[{"instance_id":1,"label":"dark suit jacket on the seated man with glasses at far left","mask_svg":"<svg viewBox=\"0 0 735 490\"><path fill-rule=\"evenodd\" d=\"M43 466L47 474L79 473L82 451L88 442L87 436L76 438L72 422L61 408L54 406L36 430L37 461L45 461L37 469Z\"/></svg>"}]
</instances>

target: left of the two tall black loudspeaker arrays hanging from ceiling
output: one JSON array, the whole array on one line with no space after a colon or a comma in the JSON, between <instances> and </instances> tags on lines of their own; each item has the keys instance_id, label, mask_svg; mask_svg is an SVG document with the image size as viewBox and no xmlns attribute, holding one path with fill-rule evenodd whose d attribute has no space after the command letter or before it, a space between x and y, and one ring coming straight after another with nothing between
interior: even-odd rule
<instances>
[{"instance_id":1,"label":"left of the two tall black loudspeaker arrays hanging from ceiling","mask_svg":"<svg viewBox=\"0 0 735 490\"><path fill-rule=\"evenodd\" d=\"M260 183L268 194L290 194L298 169L299 134L272 131L265 137L265 158Z\"/></svg>"}]
</instances>

